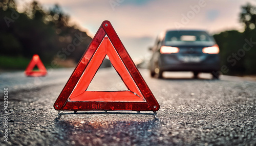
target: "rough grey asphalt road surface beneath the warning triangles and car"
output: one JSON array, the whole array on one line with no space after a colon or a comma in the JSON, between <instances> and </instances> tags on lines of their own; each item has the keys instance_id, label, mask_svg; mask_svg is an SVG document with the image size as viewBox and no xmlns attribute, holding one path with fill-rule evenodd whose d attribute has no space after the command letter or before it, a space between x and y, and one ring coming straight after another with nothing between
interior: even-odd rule
<instances>
[{"instance_id":1,"label":"rough grey asphalt road surface beneath the warning triangles and car","mask_svg":"<svg viewBox=\"0 0 256 146\"><path fill-rule=\"evenodd\" d=\"M160 104L152 115L62 115L53 103L71 69L50 70L47 77L27 78L22 71L0 74L0 145L256 145L256 82L209 75L165 74L146 83ZM8 88L8 119L4 88ZM122 90L112 69L100 69L90 90ZM5 140L8 121L8 142Z\"/></svg>"}]
</instances>

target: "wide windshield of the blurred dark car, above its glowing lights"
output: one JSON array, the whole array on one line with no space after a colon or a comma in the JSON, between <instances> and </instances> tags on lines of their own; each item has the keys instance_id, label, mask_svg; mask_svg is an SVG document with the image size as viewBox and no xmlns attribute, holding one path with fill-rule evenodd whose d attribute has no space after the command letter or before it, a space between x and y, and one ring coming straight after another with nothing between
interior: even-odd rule
<instances>
[{"instance_id":1,"label":"wide windshield of the blurred dark car, above its glowing lights","mask_svg":"<svg viewBox=\"0 0 256 146\"><path fill-rule=\"evenodd\" d=\"M213 45L214 40L203 31L169 31L165 36L166 45Z\"/></svg>"}]
</instances>

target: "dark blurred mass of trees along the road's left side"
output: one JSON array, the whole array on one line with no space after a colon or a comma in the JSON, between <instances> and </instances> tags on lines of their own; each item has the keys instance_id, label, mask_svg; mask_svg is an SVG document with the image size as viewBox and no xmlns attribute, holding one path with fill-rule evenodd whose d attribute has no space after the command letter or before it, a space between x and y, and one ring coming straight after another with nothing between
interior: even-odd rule
<instances>
[{"instance_id":1,"label":"dark blurred mass of trees along the road's left side","mask_svg":"<svg viewBox=\"0 0 256 146\"><path fill-rule=\"evenodd\" d=\"M24 12L18 12L15 1L0 0L0 57L31 59L33 54L38 54L43 62L50 63L60 56L62 61L78 62L92 38L71 26L69 16L58 5L44 10L33 1L25 7ZM67 54L63 53L77 36L82 36L81 43Z\"/></svg>"}]
</instances>

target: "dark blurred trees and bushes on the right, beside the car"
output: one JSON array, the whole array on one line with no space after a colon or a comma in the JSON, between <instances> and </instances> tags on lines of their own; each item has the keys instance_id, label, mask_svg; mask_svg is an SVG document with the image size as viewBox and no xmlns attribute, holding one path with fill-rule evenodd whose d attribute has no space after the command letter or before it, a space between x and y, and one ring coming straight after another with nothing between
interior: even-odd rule
<instances>
[{"instance_id":1,"label":"dark blurred trees and bushes on the right, beside the car","mask_svg":"<svg viewBox=\"0 0 256 146\"><path fill-rule=\"evenodd\" d=\"M256 7L241 7L240 22L244 32L225 31L214 35L220 47L221 65L226 65L227 75L256 75Z\"/></svg>"}]
</instances>

